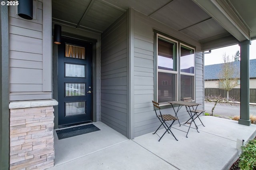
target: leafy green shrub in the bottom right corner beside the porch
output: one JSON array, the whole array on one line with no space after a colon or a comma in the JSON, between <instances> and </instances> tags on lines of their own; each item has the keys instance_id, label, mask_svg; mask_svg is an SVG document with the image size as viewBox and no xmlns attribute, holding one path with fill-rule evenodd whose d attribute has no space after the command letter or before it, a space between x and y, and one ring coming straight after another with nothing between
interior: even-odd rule
<instances>
[{"instance_id":1,"label":"leafy green shrub in the bottom right corner beside the porch","mask_svg":"<svg viewBox=\"0 0 256 170\"><path fill-rule=\"evenodd\" d=\"M256 170L256 138L241 146L239 168L241 170Z\"/></svg>"}]
</instances>

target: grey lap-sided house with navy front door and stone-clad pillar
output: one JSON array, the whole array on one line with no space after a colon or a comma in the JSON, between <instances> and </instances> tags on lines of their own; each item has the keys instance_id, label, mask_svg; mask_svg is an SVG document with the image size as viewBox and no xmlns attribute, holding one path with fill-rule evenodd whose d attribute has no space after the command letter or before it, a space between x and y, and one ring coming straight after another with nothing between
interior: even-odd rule
<instances>
[{"instance_id":1,"label":"grey lap-sided house with navy front door and stone-clad pillar","mask_svg":"<svg viewBox=\"0 0 256 170\"><path fill-rule=\"evenodd\" d=\"M203 51L239 43L246 74L255 6L254 0L33 0L33 15L24 19L17 6L1 5L0 167L53 166L54 128L102 121L132 139L159 126L152 100L169 112L168 101L192 97L202 109ZM244 98L247 85L242 77ZM243 100L239 124L250 125L247 106ZM181 122L189 118L185 108L179 114Z\"/></svg>"}]
</instances>

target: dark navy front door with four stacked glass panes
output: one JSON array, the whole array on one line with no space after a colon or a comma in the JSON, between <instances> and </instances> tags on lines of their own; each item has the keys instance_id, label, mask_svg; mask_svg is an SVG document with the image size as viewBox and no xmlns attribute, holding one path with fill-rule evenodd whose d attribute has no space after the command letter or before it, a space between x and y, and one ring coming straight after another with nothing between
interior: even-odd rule
<instances>
[{"instance_id":1,"label":"dark navy front door with four stacked glass panes","mask_svg":"<svg viewBox=\"0 0 256 170\"><path fill-rule=\"evenodd\" d=\"M92 122L92 43L58 45L58 125Z\"/></svg>"}]
</instances>

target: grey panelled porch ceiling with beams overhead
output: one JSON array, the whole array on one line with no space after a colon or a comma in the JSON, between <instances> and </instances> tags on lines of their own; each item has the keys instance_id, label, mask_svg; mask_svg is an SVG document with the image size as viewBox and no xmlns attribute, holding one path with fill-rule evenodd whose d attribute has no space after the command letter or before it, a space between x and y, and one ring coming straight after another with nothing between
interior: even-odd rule
<instances>
[{"instance_id":1,"label":"grey panelled porch ceiling with beams overhead","mask_svg":"<svg viewBox=\"0 0 256 170\"><path fill-rule=\"evenodd\" d=\"M132 7L208 44L206 50L256 39L255 6L255 0L53 0L52 21L100 34Z\"/></svg>"}]
</instances>

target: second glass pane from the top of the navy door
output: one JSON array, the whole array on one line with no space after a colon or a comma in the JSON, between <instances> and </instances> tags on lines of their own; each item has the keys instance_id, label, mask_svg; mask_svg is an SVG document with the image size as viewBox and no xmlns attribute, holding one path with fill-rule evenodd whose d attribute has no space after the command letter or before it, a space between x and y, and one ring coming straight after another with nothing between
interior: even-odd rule
<instances>
[{"instance_id":1,"label":"second glass pane from the top of the navy door","mask_svg":"<svg viewBox=\"0 0 256 170\"><path fill-rule=\"evenodd\" d=\"M85 77L85 65L65 63L65 77Z\"/></svg>"}]
</instances>

